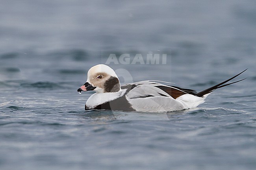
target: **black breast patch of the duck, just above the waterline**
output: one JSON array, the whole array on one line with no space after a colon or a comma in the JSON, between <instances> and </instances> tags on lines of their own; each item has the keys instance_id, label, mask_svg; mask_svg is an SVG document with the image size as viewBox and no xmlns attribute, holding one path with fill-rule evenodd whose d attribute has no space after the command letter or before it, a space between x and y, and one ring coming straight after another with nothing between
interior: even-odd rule
<instances>
[{"instance_id":1,"label":"black breast patch of the duck, just above the waterline","mask_svg":"<svg viewBox=\"0 0 256 170\"><path fill-rule=\"evenodd\" d=\"M135 111L124 95L122 97L119 97L118 99L97 105L95 106L95 108L91 108L91 109L119 110L119 111L127 111L127 112ZM85 105L85 110L89 110L86 107L86 105Z\"/></svg>"}]
</instances>

